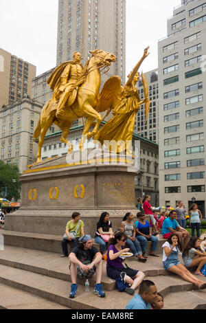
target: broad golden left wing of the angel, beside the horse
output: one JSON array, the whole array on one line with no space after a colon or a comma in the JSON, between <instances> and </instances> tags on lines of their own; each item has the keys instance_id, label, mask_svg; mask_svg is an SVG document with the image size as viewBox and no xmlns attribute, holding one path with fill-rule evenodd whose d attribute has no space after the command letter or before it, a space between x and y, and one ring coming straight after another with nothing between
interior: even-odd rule
<instances>
[{"instance_id":1,"label":"broad golden left wing of the angel, beside the horse","mask_svg":"<svg viewBox=\"0 0 206 323\"><path fill-rule=\"evenodd\" d=\"M103 112L115 107L120 93L122 93L121 78L119 76L112 76L105 83L100 94L97 111Z\"/></svg>"}]
</instances>

